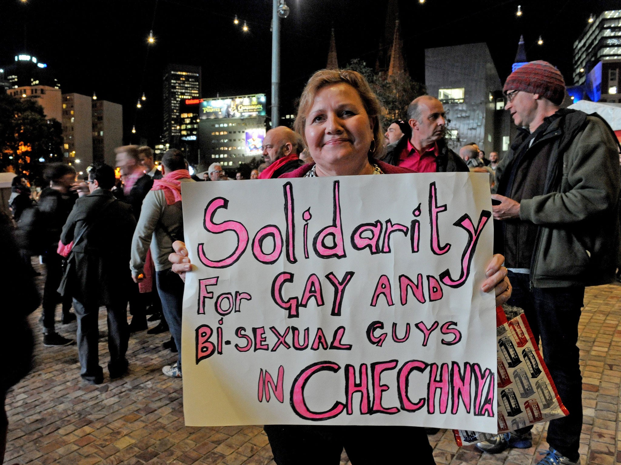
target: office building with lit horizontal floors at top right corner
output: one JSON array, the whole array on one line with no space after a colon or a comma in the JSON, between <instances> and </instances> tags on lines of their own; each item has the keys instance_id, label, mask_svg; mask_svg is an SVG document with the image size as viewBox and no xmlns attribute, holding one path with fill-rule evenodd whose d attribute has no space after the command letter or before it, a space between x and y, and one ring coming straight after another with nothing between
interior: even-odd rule
<instances>
[{"instance_id":1,"label":"office building with lit horizontal floors at top right corner","mask_svg":"<svg viewBox=\"0 0 621 465\"><path fill-rule=\"evenodd\" d=\"M621 60L621 10L604 11L591 19L574 42L574 85L585 84L597 63Z\"/></svg>"}]
</instances>

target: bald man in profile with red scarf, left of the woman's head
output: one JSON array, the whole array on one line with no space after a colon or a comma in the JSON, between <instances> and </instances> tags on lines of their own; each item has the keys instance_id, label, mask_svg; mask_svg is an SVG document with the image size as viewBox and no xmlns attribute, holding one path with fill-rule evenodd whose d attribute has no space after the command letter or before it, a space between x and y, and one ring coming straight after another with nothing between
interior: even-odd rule
<instances>
[{"instance_id":1,"label":"bald man in profile with red scarf, left of the woman's head","mask_svg":"<svg viewBox=\"0 0 621 465\"><path fill-rule=\"evenodd\" d=\"M274 179L301 167L299 154L304 149L302 138L287 126L270 129L263 139L263 161L266 168L259 179Z\"/></svg>"}]
</instances>

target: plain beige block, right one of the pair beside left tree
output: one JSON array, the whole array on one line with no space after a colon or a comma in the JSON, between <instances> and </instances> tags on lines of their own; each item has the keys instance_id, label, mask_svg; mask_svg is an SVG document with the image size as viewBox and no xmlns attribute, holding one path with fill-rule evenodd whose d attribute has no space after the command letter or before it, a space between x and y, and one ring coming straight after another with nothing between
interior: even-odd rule
<instances>
[{"instance_id":1,"label":"plain beige block, right one of the pair beside left tree","mask_svg":"<svg viewBox=\"0 0 621 465\"><path fill-rule=\"evenodd\" d=\"M123 145L123 106L93 100L93 161L116 166L114 149Z\"/></svg>"}]
</instances>

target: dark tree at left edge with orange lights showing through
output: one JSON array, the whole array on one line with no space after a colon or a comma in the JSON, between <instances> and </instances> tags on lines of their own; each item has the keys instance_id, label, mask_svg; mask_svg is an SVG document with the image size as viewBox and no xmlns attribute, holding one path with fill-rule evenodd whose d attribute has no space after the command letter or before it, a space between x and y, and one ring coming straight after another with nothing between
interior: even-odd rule
<instances>
[{"instance_id":1,"label":"dark tree at left edge with orange lights showing through","mask_svg":"<svg viewBox=\"0 0 621 465\"><path fill-rule=\"evenodd\" d=\"M40 158L62 159L62 144L60 122L45 118L35 100L0 94L0 169L12 165L18 173L38 172Z\"/></svg>"}]
</instances>

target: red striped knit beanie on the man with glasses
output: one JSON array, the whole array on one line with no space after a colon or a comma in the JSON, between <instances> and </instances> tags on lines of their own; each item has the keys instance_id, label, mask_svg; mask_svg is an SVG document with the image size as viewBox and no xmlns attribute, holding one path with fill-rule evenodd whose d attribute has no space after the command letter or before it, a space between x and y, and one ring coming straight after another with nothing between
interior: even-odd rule
<instances>
[{"instance_id":1,"label":"red striped knit beanie on the man with glasses","mask_svg":"<svg viewBox=\"0 0 621 465\"><path fill-rule=\"evenodd\" d=\"M565 97L565 81L563 74L547 61L531 61L509 74L502 91L539 94L553 104L560 105Z\"/></svg>"}]
</instances>

